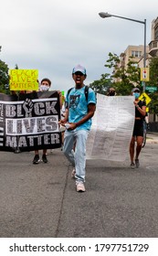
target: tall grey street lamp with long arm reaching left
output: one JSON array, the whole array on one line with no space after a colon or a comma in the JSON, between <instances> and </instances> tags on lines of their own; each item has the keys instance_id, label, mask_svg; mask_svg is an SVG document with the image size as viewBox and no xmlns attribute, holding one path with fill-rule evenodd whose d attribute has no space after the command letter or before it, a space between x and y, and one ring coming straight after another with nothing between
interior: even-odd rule
<instances>
[{"instance_id":1,"label":"tall grey street lamp with long arm reaching left","mask_svg":"<svg viewBox=\"0 0 158 256\"><path fill-rule=\"evenodd\" d=\"M104 17L111 17L111 16L114 16L114 15L111 15L109 13L99 13L99 16L104 18ZM120 18L123 18L123 19L128 19L128 20L131 20L131 21L134 21L134 22L138 22L138 23L142 23L144 25L144 50L143 50L143 68L145 69L146 68L146 19L144 19L144 21L142 20L137 20L137 19L132 19L132 18L129 18L129 17L125 17L125 16L115 16L115 17L120 17ZM143 91L145 91L145 81L142 82L143 84Z\"/></svg>"}]
</instances>

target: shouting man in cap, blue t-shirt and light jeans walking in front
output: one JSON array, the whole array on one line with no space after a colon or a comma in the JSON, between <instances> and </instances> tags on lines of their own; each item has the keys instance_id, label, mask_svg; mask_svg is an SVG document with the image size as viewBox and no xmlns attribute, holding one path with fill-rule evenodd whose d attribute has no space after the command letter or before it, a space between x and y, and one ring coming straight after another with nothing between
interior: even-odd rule
<instances>
[{"instance_id":1,"label":"shouting man in cap, blue t-shirt and light jeans walking in front","mask_svg":"<svg viewBox=\"0 0 158 256\"><path fill-rule=\"evenodd\" d=\"M86 79L86 69L80 65L72 70L72 78L75 87L66 96L66 117L60 121L67 130L64 135L64 154L74 166L72 177L76 178L78 192L84 192L85 167L86 167L86 141L90 132L91 117L96 108L96 96L89 88L88 99L85 95L84 80ZM73 151L74 143L75 152Z\"/></svg>"}]
</instances>

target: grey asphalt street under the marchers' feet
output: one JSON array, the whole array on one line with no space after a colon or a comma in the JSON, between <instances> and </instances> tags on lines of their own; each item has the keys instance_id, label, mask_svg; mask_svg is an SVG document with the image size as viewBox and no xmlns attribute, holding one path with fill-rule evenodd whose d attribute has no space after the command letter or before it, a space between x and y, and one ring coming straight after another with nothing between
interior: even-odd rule
<instances>
[{"instance_id":1,"label":"grey asphalt street under the marchers' feet","mask_svg":"<svg viewBox=\"0 0 158 256\"><path fill-rule=\"evenodd\" d=\"M41 153L41 152L40 152ZM60 151L32 165L34 152L0 152L0 237L158 237L158 135L148 134L141 167L89 160L77 193Z\"/></svg>"}]
</instances>

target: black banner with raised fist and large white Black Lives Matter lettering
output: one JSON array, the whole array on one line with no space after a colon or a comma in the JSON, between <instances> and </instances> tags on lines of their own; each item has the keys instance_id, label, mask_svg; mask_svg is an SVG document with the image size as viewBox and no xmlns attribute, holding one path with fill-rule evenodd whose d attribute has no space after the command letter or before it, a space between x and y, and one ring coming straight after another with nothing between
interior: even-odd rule
<instances>
[{"instance_id":1,"label":"black banner with raised fist and large white Black Lives Matter lettering","mask_svg":"<svg viewBox=\"0 0 158 256\"><path fill-rule=\"evenodd\" d=\"M60 147L59 119L58 91L0 93L0 151Z\"/></svg>"}]
</instances>

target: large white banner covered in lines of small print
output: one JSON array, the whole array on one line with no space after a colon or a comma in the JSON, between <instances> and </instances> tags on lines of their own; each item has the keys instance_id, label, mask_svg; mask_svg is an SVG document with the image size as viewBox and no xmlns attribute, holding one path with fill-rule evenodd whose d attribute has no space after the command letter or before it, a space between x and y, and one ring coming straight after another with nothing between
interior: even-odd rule
<instances>
[{"instance_id":1,"label":"large white banner covered in lines of small print","mask_svg":"<svg viewBox=\"0 0 158 256\"><path fill-rule=\"evenodd\" d=\"M134 124L134 97L97 94L96 112L87 141L87 159L124 161Z\"/></svg>"}]
</instances>

